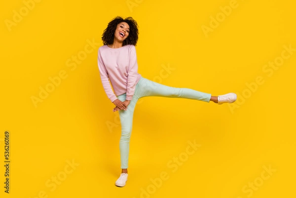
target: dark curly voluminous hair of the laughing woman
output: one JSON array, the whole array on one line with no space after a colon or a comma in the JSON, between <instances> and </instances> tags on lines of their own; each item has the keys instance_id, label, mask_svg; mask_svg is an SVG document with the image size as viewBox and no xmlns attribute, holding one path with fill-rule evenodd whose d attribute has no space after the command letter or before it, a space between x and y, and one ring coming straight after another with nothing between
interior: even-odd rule
<instances>
[{"instance_id":1,"label":"dark curly voluminous hair of the laughing woman","mask_svg":"<svg viewBox=\"0 0 296 198\"><path fill-rule=\"evenodd\" d=\"M125 40L123 40L122 46L127 44L132 44L135 46L137 45L138 37L139 37L137 22L132 17L127 17L123 19L120 16L116 16L115 18L113 18L109 22L107 28L104 30L104 33L102 35L102 40L104 45L113 43L115 30L117 28L117 25L121 22L127 23L130 28L129 36Z\"/></svg>"}]
</instances>

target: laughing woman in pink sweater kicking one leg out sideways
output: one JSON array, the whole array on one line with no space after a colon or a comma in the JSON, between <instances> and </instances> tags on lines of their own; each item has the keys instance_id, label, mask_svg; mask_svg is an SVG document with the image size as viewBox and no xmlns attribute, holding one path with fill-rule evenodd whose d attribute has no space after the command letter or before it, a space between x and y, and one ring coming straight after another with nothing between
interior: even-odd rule
<instances>
[{"instance_id":1,"label":"laughing woman in pink sweater kicking one leg out sideways","mask_svg":"<svg viewBox=\"0 0 296 198\"><path fill-rule=\"evenodd\" d=\"M117 16L104 30L102 36L104 45L98 50L98 67L102 84L108 98L115 105L113 112L119 111L121 123L119 149L122 170L115 182L115 185L119 187L125 186L127 181L133 113L140 98L146 96L179 97L205 102L213 101L218 104L232 103L236 100L234 93L211 96L209 93L188 88L169 87L143 78L138 74L135 48L138 34L138 24L132 17L123 19Z\"/></svg>"}]
</instances>

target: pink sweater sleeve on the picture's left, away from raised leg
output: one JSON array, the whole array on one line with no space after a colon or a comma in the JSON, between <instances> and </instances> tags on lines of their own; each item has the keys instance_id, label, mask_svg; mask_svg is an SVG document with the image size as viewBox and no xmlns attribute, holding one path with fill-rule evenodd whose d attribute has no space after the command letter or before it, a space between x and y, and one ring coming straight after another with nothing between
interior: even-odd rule
<instances>
[{"instance_id":1,"label":"pink sweater sleeve on the picture's left, away from raised leg","mask_svg":"<svg viewBox=\"0 0 296 198\"><path fill-rule=\"evenodd\" d=\"M114 100L117 99L117 97L115 96L115 94L113 93L113 90L111 88L111 84L109 81L109 75L108 75L105 65L103 64L100 49L98 52L98 67L99 67L101 81L102 81L102 85L104 87L104 90L105 90L108 98L111 100L111 102L113 102Z\"/></svg>"}]
</instances>

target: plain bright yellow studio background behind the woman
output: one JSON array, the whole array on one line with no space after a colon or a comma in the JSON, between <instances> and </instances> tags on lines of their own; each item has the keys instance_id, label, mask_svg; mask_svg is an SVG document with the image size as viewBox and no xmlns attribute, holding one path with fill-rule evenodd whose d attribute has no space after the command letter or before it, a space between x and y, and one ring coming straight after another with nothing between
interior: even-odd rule
<instances>
[{"instance_id":1,"label":"plain bright yellow studio background behind the woman","mask_svg":"<svg viewBox=\"0 0 296 198\"><path fill-rule=\"evenodd\" d=\"M272 75L262 70L281 56L284 45L296 48L295 3L237 0L206 37L202 27L210 27L211 16L231 3L41 0L26 13L22 0L5 1L0 8L0 156L2 164L8 130L11 175L7 195L1 165L0 197L41 198L42 191L47 198L295 197L296 52ZM21 9L27 15L9 31L5 21ZM141 99L124 188L114 186L121 171L118 113L112 113L97 66L102 33L117 15L132 16L139 24L136 49L143 77L239 96L236 106ZM76 68L68 67L67 60L83 51L87 40L99 44ZM170 74L163 72L167 66L174 69ZM36 107L31 97L61 71L67 78ZM246 83L254 84L258 76L264 83L248 92ZM167 163L184 155L187 141L194 140L201 147L173 172ZM64 174L67 160L79 165L52 190L46 182ZM263 181L264 166L275 171ZM151 193L150 178L161 172L169 179ZM246 188L260 181L256 190ZM145 197L141 189L147 188L151 194Z\"/></svg>"}]
</instances>

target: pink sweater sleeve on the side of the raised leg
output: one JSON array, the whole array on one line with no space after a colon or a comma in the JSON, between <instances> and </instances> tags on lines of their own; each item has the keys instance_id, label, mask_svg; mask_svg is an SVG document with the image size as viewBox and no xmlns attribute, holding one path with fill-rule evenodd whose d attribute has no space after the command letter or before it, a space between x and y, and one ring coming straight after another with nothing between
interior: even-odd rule
<instances>
[{"instance_id":1,"label":"pink sweater sleeve on the side of the raised leg","mask_svg":"<svg viewBox=\"0 0 296 198\"><path fill-rule=\"evenodd\" d=\"M130 61L127 75L126 100L132 100L135 93L136 80L138 78L137 53L134 45L131 47L130 51Z\"/></svg>"}]
</instances>

